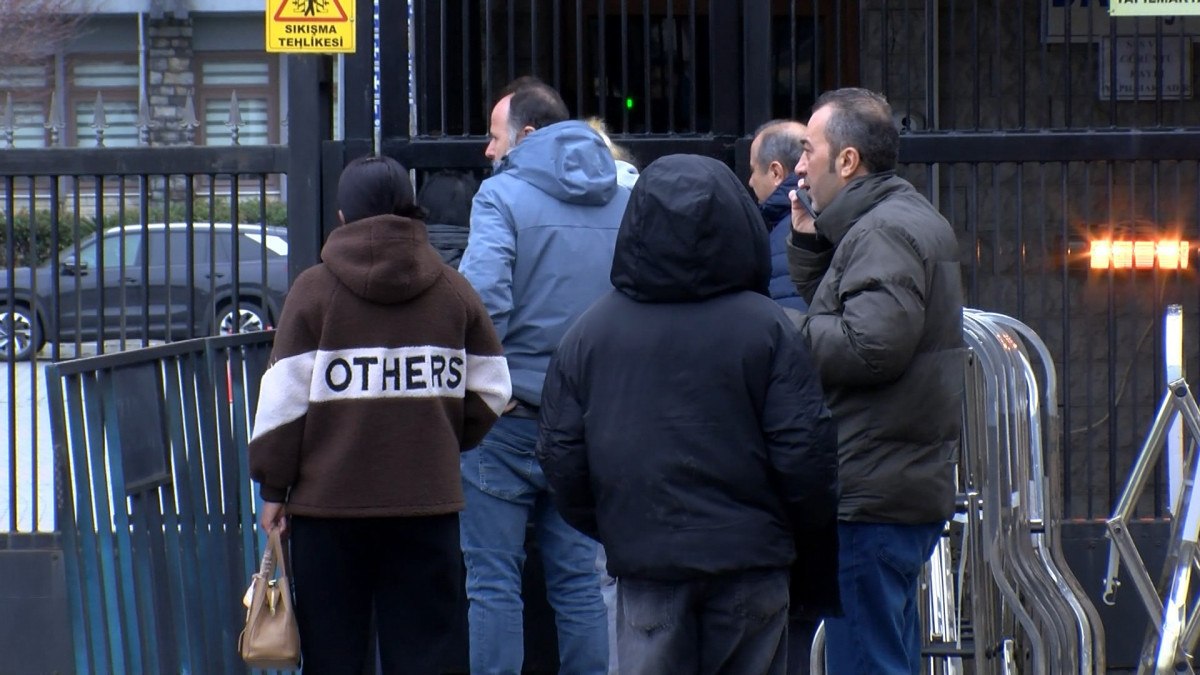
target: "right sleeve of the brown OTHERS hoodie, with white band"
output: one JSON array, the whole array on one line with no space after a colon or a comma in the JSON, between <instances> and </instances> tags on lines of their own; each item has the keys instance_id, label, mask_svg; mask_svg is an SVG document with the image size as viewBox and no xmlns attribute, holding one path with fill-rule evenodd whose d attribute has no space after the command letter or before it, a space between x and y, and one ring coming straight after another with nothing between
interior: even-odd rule
<instances>
[{"instance_id":1,"label":"right sleeve of the brown OTHERS hoodie, with white band","mask_svg":"<svg viewBox=\"0 0 1200 675\"><path fill-rule=\"evenodd\" d=\"M492 319L470 288L463 288L467 303L467 395L463 400L462 449L478 446L499 419L512 398L512 381L504 350Z\"/></svg>"}]
</instances>

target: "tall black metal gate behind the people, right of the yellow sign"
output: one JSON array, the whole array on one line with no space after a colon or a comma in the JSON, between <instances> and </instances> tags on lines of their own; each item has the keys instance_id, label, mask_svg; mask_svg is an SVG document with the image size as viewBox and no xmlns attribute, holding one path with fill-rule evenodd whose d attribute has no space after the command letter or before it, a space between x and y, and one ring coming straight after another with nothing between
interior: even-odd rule
<instances>
[{"instance_id":1,"label":"tall black metal gate behind the people, right of the yellow sign","mask_svg":"<svg viewBox=\"0 0 1200 675\"><path fill-rule=\"evenodd\" d=\"M380 25L406 20L380 8ZM602 118L643 166L701 153L742 175L760 124L804 120L827 89L884 92L901 173L959 232L970 304L1028 323L1055 354L1070 518L1109 514L1150 428L1169 304L1195 375L1194 17L1110 18L1079 0L485 0L418 1L413 22L412 67L406 41L380 41L380 125L383 150L419 175L480 171L493 96L521 74ZM347 108L347 136L371 121ZM1090 243L1108 239L1146 267L1091 269ZM1188 243L1187 269L1145 256L1169 241ZM1164 514L1156 485L1141 515Z\"/></svg>"}]
</instances>

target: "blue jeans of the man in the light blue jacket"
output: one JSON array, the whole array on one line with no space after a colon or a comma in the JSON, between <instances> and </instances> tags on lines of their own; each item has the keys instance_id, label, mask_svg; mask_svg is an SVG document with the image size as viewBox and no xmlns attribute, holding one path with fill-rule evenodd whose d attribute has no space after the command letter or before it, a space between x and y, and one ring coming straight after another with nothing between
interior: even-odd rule
<instances>
[{"instance_id":1,"label":"blue jeans of the man in the light blue jacket","mask_svg":"<svg viewBox=\"0 0 1200 675\"><path fill-rule=\"evenodd\" d=\"M502 417L478 448L462 455L470 671L521 673L521 569L526 526L533 521L546 569L546 597L558 627L560 671L602 675L608 669L608 628L596 572L598 544L554 509L534 456L536 435L535 419Z\"/></svg>"}]
</instances>

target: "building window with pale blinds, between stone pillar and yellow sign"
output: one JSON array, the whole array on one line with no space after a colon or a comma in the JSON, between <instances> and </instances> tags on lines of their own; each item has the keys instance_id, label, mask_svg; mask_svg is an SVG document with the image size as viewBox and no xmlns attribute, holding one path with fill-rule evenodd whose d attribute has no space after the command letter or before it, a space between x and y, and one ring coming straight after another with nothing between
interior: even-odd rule
<instances>
[{"instance_id":1,"label":"building window with pale blinds, between stone pillar and yellow sign","mask_svg":"<svg viewBox=\"0 0 1200 675\"><path fill-rule=\"evenodd\" d=\"M238 94L241 127L238 143L265 145L278 137L275 130L278 97L275 94L275 60L263 55L232 55L199 59L200 100L203 110L200 142L205 145L233 144L229 102Z\"/></svg>"}]
</instances>

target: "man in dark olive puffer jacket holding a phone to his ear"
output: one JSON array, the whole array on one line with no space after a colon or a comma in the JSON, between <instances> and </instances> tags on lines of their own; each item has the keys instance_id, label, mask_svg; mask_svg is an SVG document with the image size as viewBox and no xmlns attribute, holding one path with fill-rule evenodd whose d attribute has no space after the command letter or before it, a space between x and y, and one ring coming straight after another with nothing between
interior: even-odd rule
<instances>
[{"instance_id":1,"label":"man in dark olive puffer jacket holding a phone to his ear","mask_svg":"<svg viewBox=\"0 0 1200 675\"><path fill-rule=\"evenodd\" d=\"M962 287L954 231L895 174L892 108L865 89L817 98L793 196L800 333L838 420L839 583L827 671L920 673L917 580L954 512Z\"/></svg>"}]
</instances>

